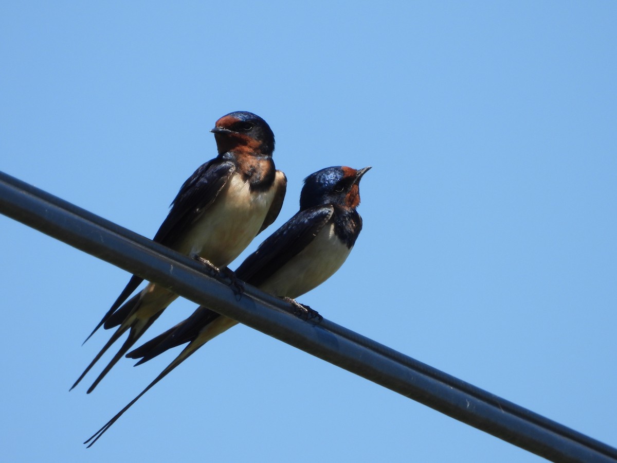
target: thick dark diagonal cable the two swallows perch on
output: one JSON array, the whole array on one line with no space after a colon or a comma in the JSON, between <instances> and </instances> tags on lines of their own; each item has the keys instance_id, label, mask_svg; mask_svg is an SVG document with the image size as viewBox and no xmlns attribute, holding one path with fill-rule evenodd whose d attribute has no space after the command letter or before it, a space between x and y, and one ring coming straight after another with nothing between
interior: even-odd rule
<instances>
[{"instance_id":1,"label":"thick dark diagonal cable the two swallows perch on","mask_svg":"<svg viewBox=\"0 0 617 463\"><path fill-rule=\"evenodd\" d=\"M0 212L197 304L309 352L539 456L616 462L617 449L524 409L336 323L305 322L270 294L242 297L201 264L0 172Z\"/></svg>"}]
</instances>

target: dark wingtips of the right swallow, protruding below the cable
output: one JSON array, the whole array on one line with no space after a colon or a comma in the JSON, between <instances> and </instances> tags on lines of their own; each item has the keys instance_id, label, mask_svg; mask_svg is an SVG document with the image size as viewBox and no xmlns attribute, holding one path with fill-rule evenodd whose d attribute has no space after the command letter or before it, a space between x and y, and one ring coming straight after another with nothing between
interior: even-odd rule
<instances>
[{"instance_id":1,"label":"dark wingtips of the right swallow, protruding below the cable","mask_svg":"<svg viewBox=\"0 0 617 463\"><path fill-rule=\"evenodd\" d=\"M130 359L141 359L136 365L143 364L150 359L156 357L167 349L181 346L182 344L193 341L194 338L199 335L199 332L205 325L213 322L221 315L217 312L213 312L207 307L200 306L197 310L188 317L188 319L181 321L175 327L168 329L166 332L161 333L159 336L152 338L151 340L139 346L137 349L126 354L126 357Z\"/></svg>"}]
</instances>

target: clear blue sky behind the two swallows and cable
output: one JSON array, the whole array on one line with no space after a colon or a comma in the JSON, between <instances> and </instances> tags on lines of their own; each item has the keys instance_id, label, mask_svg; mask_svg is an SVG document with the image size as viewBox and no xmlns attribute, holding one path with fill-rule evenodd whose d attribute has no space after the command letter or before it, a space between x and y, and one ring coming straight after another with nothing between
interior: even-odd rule
<instances>
[{"instance_id":1,"label":"clear blue sky behind the two swallows and cable","mask_svg":"<svg viewBox=\"0 0 617 463\"><path fill-rule=\"evenodd\" d=\"M617 446L616 20L612 2L4 2L0 169L152 237L215 120L255 112L289 184L242 256L309 173L372 165L354 251L300 301ZM540 461L243 326L86 450L176 352L68 393L128 275L0 230L6 461Z\"/></svg>"}]
</instances>

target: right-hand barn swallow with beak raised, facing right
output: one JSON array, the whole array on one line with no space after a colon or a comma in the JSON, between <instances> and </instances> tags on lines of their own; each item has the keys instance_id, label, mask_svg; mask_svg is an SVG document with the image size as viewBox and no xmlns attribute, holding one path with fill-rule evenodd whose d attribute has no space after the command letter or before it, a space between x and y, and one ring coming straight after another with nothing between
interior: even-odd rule
<instances>
[{"instance_id":1,"label":"right-hand barn swallow with beak raised, facing right","mask_svg":"<svg viewBox=\"0 0 617 463\"><path fill-rule=\"evenodd\" d=\"M242 262L236 277L293 304L294 299L325 282L341 267L362 230L358 183L370 169L328 167L309 175L300 194L300 211ZM99 429L85 444L92 446L152 386L207 341L238 322L205 306L188 319L127 354L141 360L189 343L135 399Z\"/></svg>"}]
</instances>

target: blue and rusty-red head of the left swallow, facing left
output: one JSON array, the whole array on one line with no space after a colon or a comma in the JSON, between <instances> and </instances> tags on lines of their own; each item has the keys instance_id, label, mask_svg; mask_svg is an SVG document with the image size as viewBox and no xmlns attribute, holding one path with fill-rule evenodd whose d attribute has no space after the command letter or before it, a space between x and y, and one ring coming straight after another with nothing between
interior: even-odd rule
<instances>
[{"instance_id":1,"label":"blue and rusty-red head of the left swallow, facing left","mask_svg":"<svg viewBox=\"0 0 617 463\"><path fill-rule=\"evenodd\" d=\"M217 140L218 154L244 151L272 156L274 151L274 133L265 120L252 112L230 112L210 131Z\"/></svg>"}]
</instances>

